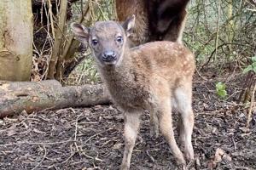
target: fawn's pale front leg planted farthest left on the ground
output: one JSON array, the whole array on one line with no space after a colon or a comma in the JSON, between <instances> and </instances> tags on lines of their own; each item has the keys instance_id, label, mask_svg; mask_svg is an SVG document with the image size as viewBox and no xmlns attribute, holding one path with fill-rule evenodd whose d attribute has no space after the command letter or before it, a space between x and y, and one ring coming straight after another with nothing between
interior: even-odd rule
<instances>
[{"instance_id":1,"label":"fawn's pale front leg planted farthest left on the ground","mask_svg":"<svg viewBox=\"0 0 256 170\"><path fill-rule=\"evenodd\" d=\"M125 152L123 156L121 170L128 170L131 163L131 153L135 145L137 133L140 125L140 113L125 113Z\"/></svg>"}]
</instances>

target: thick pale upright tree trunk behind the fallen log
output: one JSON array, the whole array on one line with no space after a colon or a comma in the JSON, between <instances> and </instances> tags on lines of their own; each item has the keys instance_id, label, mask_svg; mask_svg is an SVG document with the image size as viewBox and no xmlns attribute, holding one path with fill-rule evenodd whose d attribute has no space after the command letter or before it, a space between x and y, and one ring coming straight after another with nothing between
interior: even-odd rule
<instances>
[{"instance_id":1,"label":"thick pale upright tree trunk behind the fallen log","mask_svg":"<svg viewBox=\"0 0 256 170\"><path fill-rule=\"evenodd\" d=\"M29 81L32 70L32 2L1 0L0 80Z\"/></svg>"}]
</instances>

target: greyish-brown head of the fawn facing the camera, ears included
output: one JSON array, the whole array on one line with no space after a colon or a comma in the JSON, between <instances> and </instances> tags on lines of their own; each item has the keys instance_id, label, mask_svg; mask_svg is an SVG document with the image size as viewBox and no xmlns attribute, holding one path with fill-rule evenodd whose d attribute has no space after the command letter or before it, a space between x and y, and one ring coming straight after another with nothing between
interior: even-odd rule
<instances>
[{"instance_id":1,"label":"greyish-brown head of the fawn facing the camera, ears included","mask_svg":"<svg viewBox=\"0 0 256 170\"><path fill-rule=\"evenodd\" d=\"M101 66L119 65L123 59L127 37L135 25L135 16L120 25L114 21L98 21L89 28L73 23L72 31L82 43L88 43L92 54Z\"/></svg>"}]
</instances>

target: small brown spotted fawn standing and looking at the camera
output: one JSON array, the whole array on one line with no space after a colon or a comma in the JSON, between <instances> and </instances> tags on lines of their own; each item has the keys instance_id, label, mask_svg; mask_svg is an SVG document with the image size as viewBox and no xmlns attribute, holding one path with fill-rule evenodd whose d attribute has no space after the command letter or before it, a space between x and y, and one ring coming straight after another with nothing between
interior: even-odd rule
<instances>
[{"instance_id":1,"label":"small brown spotted fawn standing and looking at the camera","mask_svg":"<svg viewBox=\"0 0 256 170\"><path fill-rule=\"evenodd\" d=\"M191 106L194 55L177 42L148 42L129 48L135 16L120 25L98 21L92 28L73 23L72 31L80 42L89 43L102 81L113 102L125 112L125 152L120 169L130 168L143 111L150 112L150 132L160 133L172 149L177 164L194 159L191 135L194 115ZM172 107L180 113L179 136L184 156L172 128Z\"/></svg>"}]
</instances>

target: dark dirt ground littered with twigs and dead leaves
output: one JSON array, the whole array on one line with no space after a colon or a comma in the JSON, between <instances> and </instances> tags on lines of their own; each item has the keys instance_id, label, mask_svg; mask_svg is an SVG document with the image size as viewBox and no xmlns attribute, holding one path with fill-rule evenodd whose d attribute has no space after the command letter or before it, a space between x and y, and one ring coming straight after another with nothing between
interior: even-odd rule
<instances>
[{"instance_id":1,"label":"dark dirt ground littered with twigs and dead leaves","mask_svg":"<svg viewBox=\"0 0 256 170\"><path fill-rule=\"evenodd\" d=\"M256 169L256 114L233 102L244 77L229 75L229 99L218 99L216 75L195 78L195 162L189 169ZM240 84L239 84L240 83ZM174 113L174 124L177 115ZM124 120L114 105L39 111L0 120L0 169L118 169ZM176 126L176 125L175 125ZM148 114L131 158L131 170L177 169L165 139L151 138Z\"/></svg>"}]
</instances>

